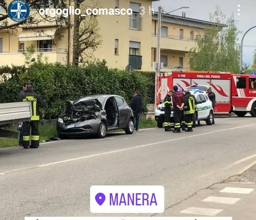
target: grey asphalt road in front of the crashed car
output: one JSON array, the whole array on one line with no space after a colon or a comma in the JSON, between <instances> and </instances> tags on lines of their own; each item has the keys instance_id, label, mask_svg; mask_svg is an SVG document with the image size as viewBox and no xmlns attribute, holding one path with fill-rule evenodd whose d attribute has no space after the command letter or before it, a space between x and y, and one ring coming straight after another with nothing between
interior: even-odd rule
<instances>
[{"instance_id":1,"label":"grey asphalt road in front of the crashed car","mask_svg":"<svg viewBox=\"0 0 256 220\"><path fill-rule=\"evenodd\" d=\"M0 219L140 215L90 213L92 185L163 185L168 209L255 160L255 118L215 121L181 134L156 128L0 149Z\"/></svg>"}]
</instances>

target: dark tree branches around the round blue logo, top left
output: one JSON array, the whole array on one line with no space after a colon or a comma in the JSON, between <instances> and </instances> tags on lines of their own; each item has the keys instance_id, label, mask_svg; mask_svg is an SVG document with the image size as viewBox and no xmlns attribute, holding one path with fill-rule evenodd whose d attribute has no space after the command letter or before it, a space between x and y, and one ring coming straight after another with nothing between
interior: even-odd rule
<instances>
[{"instance_id":1,"label":"dark tree branches around the round blue logo, top left","mask_svg":"<svg viewBox=\"0 0 256 220\"><path fill-rule=\"evenodd\" d=\"M7 14L7 8L8 4L6 3L6 0L0 0L0 7L3 8L4 13L0 13L0 30L3 29L16 29L19 28L19 26L31 26L31 25L37 25L41 21L49 21L49 22L55 22L57 25L62 26L63 23L67 21L66 18L63 16L59 16L58 18L53 18L48 15L40 15L39 9L40 8L47 8L50 5L54 5L55 8L65 8L65 0L26 0L26 3L28 3L30 7L30 16L28 19L21 21L21 22L10 22L9 16ZM31 10L34 9L34 10ZM33 16L38 14L38 16Z\"/></svg>"}]
</instances>

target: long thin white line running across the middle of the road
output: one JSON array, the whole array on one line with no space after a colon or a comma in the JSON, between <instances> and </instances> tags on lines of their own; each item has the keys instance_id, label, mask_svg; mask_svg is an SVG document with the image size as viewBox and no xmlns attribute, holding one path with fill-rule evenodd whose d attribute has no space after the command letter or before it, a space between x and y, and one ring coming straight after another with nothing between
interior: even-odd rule
<instances>
[{"instance_id":1,"label":"long thin white line running across the middle of the road","mask_svg":"<svg viewBox=\"0 0 256 220\"><path fill-rule=\"evenodd\" d=\"M227 129L222 129L222 130L217 130L217 131L210 131L210 132L206 132L206 133L202 133L202 134L178 137L178 138L175 138L175 139L170 139L170 140L166 140L166 141L159 141L159 142L139 145L139 146L135 146L135 147L129 147L129 148L124 148L124 149L119 149L119 150L112 150L112 151L102 152L102 153L99 153L99 154L86 155L86 156L76 157L76 158L72 158L72 159L68 159L68 160L61 160L61 161L57 161L57 162L51 162L51 163L48 163L48 164L42 164L42 165L38 165L38 166L35 166L35 167L28 167L28 168L24 168L24 169L20 169L20 170L8 171L8 172L4 172L3 174L10 174L10 173L13 173L13 172L19 172L19 171L23 171L23 170L29 170L29 169L38 168L38 167L44 167L44 166L50 166L50 165L55 165L55 164L61 164L61 163L65 163L65 162L70 162L70 161L75 161L75 160L80 160L80 159L86 159L86 158L91 158L91 157L96 157L96 156L115 154L115 153L118 153L118 152L134 150L134 149L138 149L138 148L142 148L142 147L147 147L147 146L152 146L152 145L157 145L157 144L163 144L163 143L166 143L166 142L187 139L187 138L190 138L190 137L198 137L198 136L202 136L202 135L206 135L206 134L213 134L213 133L216 133L216 132L228 131L228 130L238 129L238 128L242 128L242 127L248 127L248 126L253 126L253 125L254 124L243 125L243 126L232 127L232 128L227 128Z\"/></svg>"}]
</instances>

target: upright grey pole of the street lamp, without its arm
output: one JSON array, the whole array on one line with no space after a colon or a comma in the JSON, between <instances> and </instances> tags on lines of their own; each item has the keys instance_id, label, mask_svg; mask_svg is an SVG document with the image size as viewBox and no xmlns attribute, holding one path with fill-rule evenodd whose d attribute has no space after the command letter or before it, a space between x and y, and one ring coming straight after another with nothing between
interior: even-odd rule
<instances>
[{"instance_id":1,"label":"upright grey pole of the street lamp, without its arm","mask_svg":"<svg viewBox=\"0 0 256 220\"><path fill-rule=\"evenodd\" d=\"M154 103L154 109L157 107L157 89L158 89L158 80L157 77L159 76L160 70L161 70L161 26L162 26L162 7L158 7L158 33L157 33L157 66L156 66L156 74L155 74L155 103Z\"/></svg>"}]
</instances>

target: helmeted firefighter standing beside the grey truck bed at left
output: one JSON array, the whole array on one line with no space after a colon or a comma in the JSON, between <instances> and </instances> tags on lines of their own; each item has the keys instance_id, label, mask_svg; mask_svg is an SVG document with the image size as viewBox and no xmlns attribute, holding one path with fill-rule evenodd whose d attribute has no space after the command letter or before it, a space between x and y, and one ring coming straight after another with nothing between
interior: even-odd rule
<instances>
[{"instance_id":1,"label":"helmeted firefighter standing beside the grey truck bed at left","mask_svg":"<svg viewBox=\"0 0 256 220\"><path fill-rule=\"evenodd\" d=\"M31 101L32 116L31 121L23 122L23 147L25 149L38 148L39 147L39 107L44 107L45 103L43 99L32 91L32 85L27 86L25 94L22 96L22 101ZM30 142L30 127L31 127L31 145Z\"/></svg>"}]
</instances>

